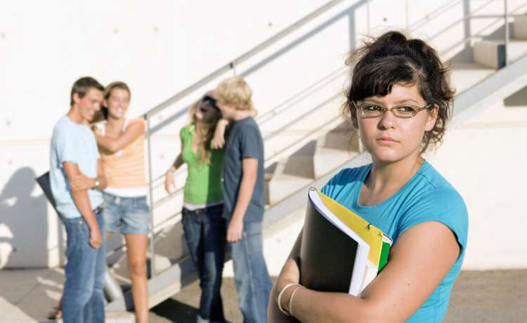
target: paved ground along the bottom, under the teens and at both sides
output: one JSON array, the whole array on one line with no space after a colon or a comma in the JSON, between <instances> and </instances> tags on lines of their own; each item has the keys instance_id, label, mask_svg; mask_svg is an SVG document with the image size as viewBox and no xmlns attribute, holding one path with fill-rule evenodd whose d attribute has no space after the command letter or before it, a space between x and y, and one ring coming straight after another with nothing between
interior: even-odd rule
<instances>
[{"instance_id":1,"label":"paved ground along the bottom, under the teens and at both sides","mask_svg":"<svg viewBox=\"0 0 527 323\"><path fill-rule=\"evenodd\" d=\"M61 296L63 272L0 271L0 323L46 322L46 314ZM232 279L222 287L229 322L242 322ZM195 322L199 302L197 282L152 309L150 322ZM110 322L130 322L122 317ZM444 323L527 322L527 269L461 272L452 291Z\"/></svg>"}]
</instances>

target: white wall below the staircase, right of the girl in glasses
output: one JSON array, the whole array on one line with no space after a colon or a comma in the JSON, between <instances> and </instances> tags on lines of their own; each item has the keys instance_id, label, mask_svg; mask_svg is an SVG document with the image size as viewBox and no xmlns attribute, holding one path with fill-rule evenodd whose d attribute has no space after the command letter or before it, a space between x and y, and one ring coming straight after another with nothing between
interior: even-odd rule
<instances>
[{"instance_id":1,"label":"white wall below the staircase, right of the girl in glasses","mask_svg":"<svg viewBox=\"0 0 527 323\"><path fill-rule=\"evenodd\" d=\"M430 156L469 210L465 269L527 268L526 95L454 127Z\"/></svg>"}]
</instances>

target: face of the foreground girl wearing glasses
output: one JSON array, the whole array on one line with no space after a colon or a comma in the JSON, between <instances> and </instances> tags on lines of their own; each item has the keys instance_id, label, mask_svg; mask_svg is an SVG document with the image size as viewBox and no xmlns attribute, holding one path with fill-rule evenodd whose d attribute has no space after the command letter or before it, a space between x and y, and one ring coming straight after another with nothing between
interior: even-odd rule
<instances>
[{"instance_id":1,"label":"face of the foreground girl wearing glasses","mask_svg":"<svg viewBox=\"0 0 527 323\"><path fill-rule=\"evenodd\" d=\"M427 105L419 93L417 84L394 85L388 95L367 97L362 102L385 108ZM372 155L373 162L391 164L419 157L424 132L431 130L436 122L437 107L432 110L420 110L414 117L407 119L395 117L392 111L386 111L378 117L363 117L358 109L357 119L360 139Z\"/></svg>"}]
</instances>

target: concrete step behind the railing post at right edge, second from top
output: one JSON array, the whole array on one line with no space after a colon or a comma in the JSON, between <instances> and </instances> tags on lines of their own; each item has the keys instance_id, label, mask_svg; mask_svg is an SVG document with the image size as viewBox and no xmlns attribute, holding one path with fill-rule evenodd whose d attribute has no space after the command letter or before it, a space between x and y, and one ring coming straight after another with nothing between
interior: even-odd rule
<instances>
[{"instance_id":1,"label":"concrete step behind the railing post at right edge, second from top","mask_svg":"<svg viewBox=\"0 0 527 323\"><path fill-rule=\"evenodd\" d=\"M474 62L489 68L503 68L505 65L504 41L479 41L474 43ZM508 60L513 62L527 54L527 41L508 42Z\"/></svg>"}]
</instances>

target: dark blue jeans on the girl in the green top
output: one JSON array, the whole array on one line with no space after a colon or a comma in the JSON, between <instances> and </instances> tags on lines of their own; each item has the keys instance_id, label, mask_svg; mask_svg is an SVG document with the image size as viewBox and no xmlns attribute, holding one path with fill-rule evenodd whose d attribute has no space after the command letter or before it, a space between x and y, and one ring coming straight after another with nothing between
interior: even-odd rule
<instances>
[{"instance_id":1,"label":"dark blue jeans on the girl in the green top","mask_svg":"<svg viewBox=\"0 0 527 323\"><path fill-rule=\"evenodd\" d=\"M201 322L225 322L221 300L221 272L225 260L226 225L221 217L223 206L190 211L183 208L183 231L190 258L199 274L202 298Z\"/></svg>"}]
</instances>

